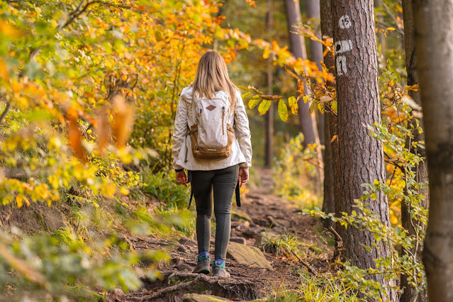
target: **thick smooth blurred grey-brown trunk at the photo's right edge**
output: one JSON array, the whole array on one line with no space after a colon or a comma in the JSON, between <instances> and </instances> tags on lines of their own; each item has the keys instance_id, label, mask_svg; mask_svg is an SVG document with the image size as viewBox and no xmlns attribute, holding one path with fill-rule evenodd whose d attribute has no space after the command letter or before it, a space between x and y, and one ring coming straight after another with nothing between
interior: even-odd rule
<instances>
[{"instance_id":1,"label":"thick smooth blurred grey-brown trunk at the photo's right edge","mask_svg":"<svg viewBox=\"0 0 453 302\"><path fill-rule=\"evenodd\" d=\"M430 214L423 264L430 301L453 301L453 0L414 0Z\"/></svg>"}]
</instances>

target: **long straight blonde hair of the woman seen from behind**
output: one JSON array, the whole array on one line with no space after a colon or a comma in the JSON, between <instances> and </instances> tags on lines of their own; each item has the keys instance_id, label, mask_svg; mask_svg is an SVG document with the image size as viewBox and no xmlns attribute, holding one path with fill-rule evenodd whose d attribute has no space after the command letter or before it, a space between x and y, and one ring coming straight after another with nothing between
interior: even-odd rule
<instances>
[{"instance_id":1,"label":"long straight blonde hair of the woman seen from behind","mask_svg":"<svg viewBox=\"0 0 453 302\"><path fill-rule=\"evenodd\" d=\"M208 50L201 56L192 83L194 94L211 99L216 91L225 91L230 99L230 108L236 105L237 88L228 77L228 69L223 57L214 50Z\"/></svg>"}]
</instances>

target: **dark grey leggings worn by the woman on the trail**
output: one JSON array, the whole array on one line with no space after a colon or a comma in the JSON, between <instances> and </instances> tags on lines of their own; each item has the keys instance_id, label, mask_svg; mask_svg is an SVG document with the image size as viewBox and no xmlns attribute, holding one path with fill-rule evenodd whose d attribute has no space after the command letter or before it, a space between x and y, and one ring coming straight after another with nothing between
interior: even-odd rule
<instances>
[{"instance_id":1,"label":"dark grey leggings worn by the woman on the trail","mask_svg":"<svg viewBox=\"0 0 453 302\"><path fill-rule=\"evenodd\" d=\"M216 259L225 259L231 232L231 201L237 184L239 165L212 171L192 171L191 186L196 203L198 252L209 251L211 216L216 216ZM214 194L212 194L214 191Z\"/></svg>"}]
</instances>

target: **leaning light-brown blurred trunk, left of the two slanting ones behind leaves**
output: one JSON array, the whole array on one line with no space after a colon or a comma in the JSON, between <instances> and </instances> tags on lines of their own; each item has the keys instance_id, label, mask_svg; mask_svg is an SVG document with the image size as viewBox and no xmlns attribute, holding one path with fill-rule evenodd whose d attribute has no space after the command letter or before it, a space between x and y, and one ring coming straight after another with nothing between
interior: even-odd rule
<instances>
[{"instance_id":1,"label":"leaning light-brown blurred trunk, left of the two slanting ones behind leaves","mask_svg":"<svg viewBox=\"0 0 453 302\"><path fill-rule=\"evenodd\" d=\"M286 22L288 23L289 42L291 44L291 52L295 57L300 57L304 60L307 59L307 50L305 41L301 35L292 33L295 29L293 25L301 23L301 9L299 1L285 0L286 8ZM304 91L308 91L306 84L303 85ZM304 103L303 99L298 102L299 113L299 126L301 133L304 136L304 145L313 144L317 141L318 130L316 128L316 121L314 115L308 115L310 104ZM318 138L319 140L319 138Z\"/></svg>"}]
</instances>

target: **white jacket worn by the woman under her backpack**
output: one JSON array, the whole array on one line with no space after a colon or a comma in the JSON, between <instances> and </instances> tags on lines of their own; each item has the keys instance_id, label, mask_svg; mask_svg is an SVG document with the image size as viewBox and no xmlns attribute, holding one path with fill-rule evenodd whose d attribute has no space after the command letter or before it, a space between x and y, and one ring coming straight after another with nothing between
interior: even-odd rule
<instances>
[{"instance_id":1,"label":"white jacket worn by the woman under her backpack","mask_svg":"<svg viewBox=\"0 0 453 302\"><path fill-rule=\"evenodd\" d=\"M228 98L225 91L217 91L216 97ZM235 128L235 141L231 147L231 155L220 160L195 159L191 151L191 140L187 135L189 126L194 125L194 115L191 114L193 101L192 87L182 89L179 98L176 118L174 119L173 133L173 167L174 169L185 168L188 170L216 170L240 164L242 168L252 167L252 142L250 141L250 128L244 101L240 91L236 92L236 106L234 114L228 117L228 123Z\"/></svg>"}]
</instances>

